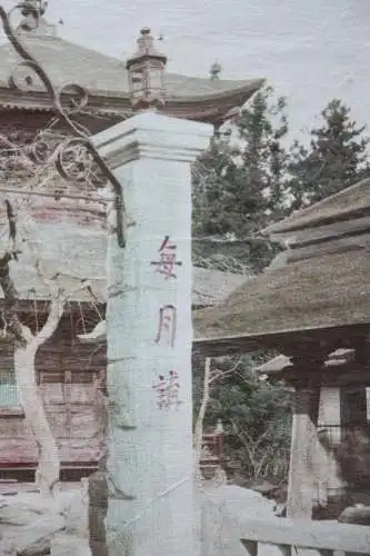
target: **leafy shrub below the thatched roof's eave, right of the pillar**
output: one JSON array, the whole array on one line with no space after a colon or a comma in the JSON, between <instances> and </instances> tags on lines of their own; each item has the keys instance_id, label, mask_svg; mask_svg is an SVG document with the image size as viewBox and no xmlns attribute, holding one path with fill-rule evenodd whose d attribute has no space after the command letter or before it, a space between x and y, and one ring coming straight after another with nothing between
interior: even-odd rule
<instances>
[{"instance_id":1,"label":"leafy shrub below the thatched roof's eave, right of the pillar","mask_svg":"<svg viewBox=\"0 0 370 556\"><path fill-rule=\"evenodd\" d=\"M210 400L204 428L218 419L224 429L224 467L237 483L284 480L289 467L292 391L282 384L260 380L252 355L212 361ZM201 366L194 360L194 414L202 393Z\"/></svg>"}]
</instances>

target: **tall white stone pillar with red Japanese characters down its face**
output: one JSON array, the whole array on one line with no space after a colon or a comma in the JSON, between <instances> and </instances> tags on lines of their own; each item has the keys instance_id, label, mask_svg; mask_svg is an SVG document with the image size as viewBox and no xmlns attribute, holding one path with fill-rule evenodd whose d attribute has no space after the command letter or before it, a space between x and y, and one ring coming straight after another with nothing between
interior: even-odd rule
<instances>
[{"instance_id":1,"label":"tall white stone pillar with red Japanese characters down its face","mask_svg":"<svg viewBox=\"0 0 370 556\"><path fill-rule=\"evenodd\" d=\"M93 138L127 222L107 262L109 556L194 554L190 165L211 132L142 112Z\"/></svg>"}]
</instances>

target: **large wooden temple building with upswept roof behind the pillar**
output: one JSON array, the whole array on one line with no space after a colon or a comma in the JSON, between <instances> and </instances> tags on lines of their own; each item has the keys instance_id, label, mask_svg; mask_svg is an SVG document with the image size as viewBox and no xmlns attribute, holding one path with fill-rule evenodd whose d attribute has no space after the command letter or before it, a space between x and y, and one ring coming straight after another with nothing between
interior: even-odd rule
<instances>
[{"instance_id":1,"label":"large wooden temple building with upswept roof behind the pillar","mask_svg":"<svg viewBox=\"0 0 370 556\"><path fill-rule=\"evenodd\" d=\"M88 91L87 102L73 115L73 121L88 128L91 135L130 117L132 109L123 60L63 40L57 27L44 18L21 40L46 69L56 89L63 89L66 106L76 92L73 88L68 89L69 83ZM42 130L52 129L52 133L63 137L70 133L58 120L52 100L38 77L19 66L20 61L11 44L0 47L0 142L9 148L9 157L18 145L32 143ZM261 79L200 79L170 72L164 73L164 80L167 115L211 122L216 127L224 121L230 109L242 106L263 82ZM7 140L16 147L9 146ZM18 178L17 172L7 173L1 168L0 171L3 178L1 195L13 191L24 200L32 222L22 244L19 265L11 262L20 296L21 321L33 331L40 329L50 299L50 292L36 274L34 257L32 259L28 246L38 249L50 276L59 272L60 285L66 289L73 289L76 277L93 278L92 297L81 291L69 300L57 332L40 348L36 361L40 393L60 448L62 478L74 479L96 467L100 449L93 377L104 373L106 344L83 345L78 342L77 335L86 334L103 318L106 205L93 188L87 187L81 192L80 183L63 182L56 173L50 173L50 169L43 175L48 187L41 196L37 187L34 195L24 196L27 172L23 177L20 172ZM63 197L63 192L70 197ZM4 224L4 214L0 217ZM6 224L2 229L0 245L7 240ZM194 308L220 302L242 281L240 276L194 268ZM0 478L16 476L30 480L36 466L36 444L17 399L12 348L1 347Z\"/></svg>"}]
</instances>

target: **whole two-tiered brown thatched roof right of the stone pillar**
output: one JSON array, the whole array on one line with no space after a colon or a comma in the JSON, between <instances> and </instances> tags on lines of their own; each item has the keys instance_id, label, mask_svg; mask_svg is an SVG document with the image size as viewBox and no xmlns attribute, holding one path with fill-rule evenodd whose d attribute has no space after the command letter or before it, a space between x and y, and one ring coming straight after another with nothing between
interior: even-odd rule
<instances>
[{"instance_id":1,"label":"whole two-tiered brown thatched roof right of the stone pillar","mask_svg":"<svg viewBox=\"0 0 370 556\"><path fill-rule=\"evenodd\" d=\"M323 330L370 328L368 216L370 179L267 228L281 242L290 239L290 249L219 306L197 311L196 344L223 353L279 349L292 338L317 341Z\"/></svg>"}]
</instances>

